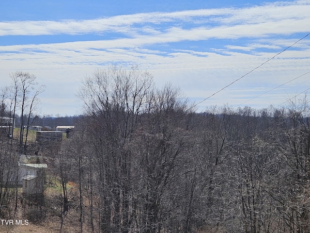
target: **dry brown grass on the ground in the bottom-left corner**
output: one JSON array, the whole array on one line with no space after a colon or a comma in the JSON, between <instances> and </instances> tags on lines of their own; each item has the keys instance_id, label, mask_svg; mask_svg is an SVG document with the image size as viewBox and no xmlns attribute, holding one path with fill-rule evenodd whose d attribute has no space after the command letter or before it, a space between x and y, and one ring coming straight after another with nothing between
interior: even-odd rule
<instances>
[{"instance_id":1,"label":"dry brown grass on the ground in the bottom-left corner","mask_svg":"<svg viewBox=\"0 0 310 233\"><path fill-rule=\"evenodd\" d=\"M40 200L27 198L23 194L18 196L18 209L15 217L0 217L0 219L13 219L14 225L1 224L0 233L59 233L61 229L62 216L62 191L61 183L58 178L49 177L53 185L48 185L45 190L44 202L40 207ZM76 196L77 184L67 183L68 195ZM71 200L73 207L69 209L66 216L63 216L62 233L79 232L79 209L78 200ZM12 207L13 208L13 207ZM28 225L15 225L16 220L27 219ZM24 221L25 223L25 221ZM83 226L83 232L89 232L87 224Z\"/></svg>"}]
</instances>

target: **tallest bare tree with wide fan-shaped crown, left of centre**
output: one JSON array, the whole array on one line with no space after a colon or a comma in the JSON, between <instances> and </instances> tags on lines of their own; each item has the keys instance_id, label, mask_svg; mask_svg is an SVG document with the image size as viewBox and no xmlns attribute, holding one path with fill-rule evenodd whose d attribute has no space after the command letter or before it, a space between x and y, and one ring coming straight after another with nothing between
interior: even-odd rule
<instances>
[{"instance_id":1,"label":"tallest bare tree with wide fan-shaped crown, left of centre","mask_svg":"<svg viewBox=\"0 0 310 233\"><path fill-rule=\"evenodd\" d=\"M132 67L97 70L86 77L78 94L95 127L94 153L101 184L102 230L128 232L132 216L130 189L132 153L128 143L146 111L146 96L153 86L148 72Z\"/></svg>"}]
</instances>

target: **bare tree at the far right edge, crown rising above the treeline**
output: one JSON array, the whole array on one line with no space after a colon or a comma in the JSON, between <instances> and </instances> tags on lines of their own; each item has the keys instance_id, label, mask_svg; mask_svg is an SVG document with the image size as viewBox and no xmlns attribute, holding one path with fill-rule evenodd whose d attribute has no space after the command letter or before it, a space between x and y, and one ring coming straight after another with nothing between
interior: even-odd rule
<instances>
[{"instance_id":1,"label":"bare tree at the far right edge, crown rising above the treeline","mask_svg":"<svg viewBox=\"0 0 310 233\"><path fill-rule=\"evenodd\" d=\"M281 186L277 196L284 226L290 233L310 231L309 179L310 179L310 112L309 100L291 101L283 118L284 130L274 135L284 162Z\"/></svg>"}]
</instances>

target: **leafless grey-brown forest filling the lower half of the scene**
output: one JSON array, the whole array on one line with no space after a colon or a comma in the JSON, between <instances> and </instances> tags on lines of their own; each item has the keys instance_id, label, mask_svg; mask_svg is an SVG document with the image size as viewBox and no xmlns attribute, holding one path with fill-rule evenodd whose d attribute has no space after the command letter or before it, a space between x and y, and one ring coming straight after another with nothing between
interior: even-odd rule
<instances>
[{"instance_id":1,"label":"leafless grey-brown forest filling the lower half of the scene","mask_svg":"<svg viewBox=\"0 0 310 233\"><path fill-rule=\"evenodd\" d=\"M19 115L27 131L30 100L42 88L2 95L1 116ZM53 221L55 232L69 225L80 233L310 232L306 95L276 108L197 113L178 87L156 87L138 67L109 67L84 77L77 97L84 115L61 142L1 134L1 219ZM21 154L47 164L43 195L25 196L17 186Z\"/></svg>"}]
</instances>

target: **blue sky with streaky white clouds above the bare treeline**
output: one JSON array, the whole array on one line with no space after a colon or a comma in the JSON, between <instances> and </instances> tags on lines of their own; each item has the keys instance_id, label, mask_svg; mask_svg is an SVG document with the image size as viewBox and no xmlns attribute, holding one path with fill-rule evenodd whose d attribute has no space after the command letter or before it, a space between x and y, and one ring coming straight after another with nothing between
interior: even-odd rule
<instances>
[{"instance_id":1,"label":"blue sky with streaky white clouds above the bare treeline","mask_svg":"<svg viewBox=\"0 0 310 233\"><path fill-rule=\"evenodd\" d=\"M310 88L309 13L310 0L2 0L0 88L29 72L46 85L39 114L73 116L82 78L138 65L197 112L282 106Z\"/></svg>"}]
</instances>

